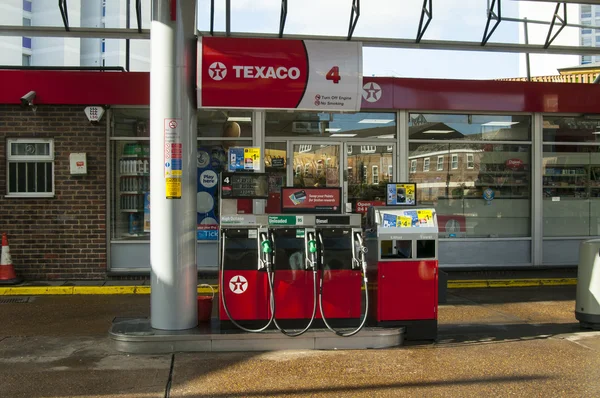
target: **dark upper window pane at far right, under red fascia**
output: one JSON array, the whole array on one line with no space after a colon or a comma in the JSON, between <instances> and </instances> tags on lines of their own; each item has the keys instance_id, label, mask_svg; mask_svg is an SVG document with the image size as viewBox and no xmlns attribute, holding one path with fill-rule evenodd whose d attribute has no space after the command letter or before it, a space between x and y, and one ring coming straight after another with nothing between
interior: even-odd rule
<instances>
[{"instance_id":1,"label":"dark upper window pane at far right, under red fascia","mask_svg":"<svg viewBox=\"0 0 600 398\"><path fill-rule=\"evenodd\" d=\"M545 142L600 143L600 115L587 117L544 117Z\"/></svg>"}]
</instances>

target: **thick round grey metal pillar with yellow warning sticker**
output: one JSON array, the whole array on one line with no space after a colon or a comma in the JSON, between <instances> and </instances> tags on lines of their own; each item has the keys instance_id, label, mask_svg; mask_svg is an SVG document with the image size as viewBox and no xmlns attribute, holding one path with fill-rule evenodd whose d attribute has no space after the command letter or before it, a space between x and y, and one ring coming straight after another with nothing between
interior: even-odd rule
<instances>
[{"instance_id":1,"label":"thick round grey metal pillar with yellow warning sticker","mask_svg":"<svg viewBox=\"0 0 600 398\"><path fill-rule=\"evenodd\" d=\"M152 1L150 315L163 330L198 324L195 14L195 0Z\"/></svg>"}]
</instances>

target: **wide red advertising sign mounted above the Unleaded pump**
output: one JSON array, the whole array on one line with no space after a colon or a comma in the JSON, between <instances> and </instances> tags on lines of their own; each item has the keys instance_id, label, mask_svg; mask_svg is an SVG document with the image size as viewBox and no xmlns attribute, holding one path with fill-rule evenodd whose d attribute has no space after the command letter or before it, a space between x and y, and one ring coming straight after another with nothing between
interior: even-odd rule
<instances>
[{"instance_id":1,"label":"wide red advertising sign mounted above the Unleaded pump","mask_svg":"<svg viewBox=\"0 0 600 398\"><path fill-rule=\"evenodd\" d=\"M340 188L282 188L283 213L341 213Z\"/></svg>"}]
</instances>

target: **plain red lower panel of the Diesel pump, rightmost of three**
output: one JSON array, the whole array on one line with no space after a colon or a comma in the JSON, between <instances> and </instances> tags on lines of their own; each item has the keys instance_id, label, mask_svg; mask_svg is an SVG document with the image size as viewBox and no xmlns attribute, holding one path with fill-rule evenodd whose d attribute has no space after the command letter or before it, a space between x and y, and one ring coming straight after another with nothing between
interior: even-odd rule
<instances>
[{"instance_id":1,"label":"plain red lower panel of the Diesel pump, rightmost of three","mask_svg":"<svg viewBox=\"0 0 600 398\"><path fill-rule=\"evenodd\" d=\"M326 271L323 278L323 311L327 319L360 318L362 277L359 271ZM317 311L320 317L320 311Z\"/></svg>"}]
</instances>

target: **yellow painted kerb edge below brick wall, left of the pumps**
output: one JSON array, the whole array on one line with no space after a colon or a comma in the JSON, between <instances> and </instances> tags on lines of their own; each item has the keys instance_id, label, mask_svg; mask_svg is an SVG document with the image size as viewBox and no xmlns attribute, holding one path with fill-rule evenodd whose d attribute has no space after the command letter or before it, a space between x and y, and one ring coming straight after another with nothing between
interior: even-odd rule
<instances>
[{"instance_id":1,"label":"yellow painted kerb edge below brick wall, left of the pumps","mask_svg":"<svg viewBox=\"0 0 600 398\"><path fill-rule=\"evenodd\" d=\"M215 295L219 287L213 285ZM199 287L198 294L212 295L209 287ZM150 294L150 286L10 286L0 287L0 296L44 296L44 295L93 295L93 294Z\"/></svg>"}]
</instances>

